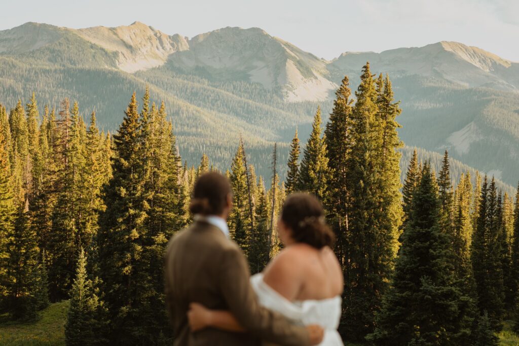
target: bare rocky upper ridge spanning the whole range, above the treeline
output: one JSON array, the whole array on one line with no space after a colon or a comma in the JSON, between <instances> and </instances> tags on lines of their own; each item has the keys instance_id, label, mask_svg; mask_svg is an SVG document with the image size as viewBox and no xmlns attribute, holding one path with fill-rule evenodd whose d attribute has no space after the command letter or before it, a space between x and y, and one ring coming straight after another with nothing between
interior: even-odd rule
<instances>
[{"instance_id":1,"label":"bare rocky upper ridge spanning the whole range, above the treeline","mask_svg":"<svg viewBox=\"0 0 519 346\"><path fill-rule=\"evenodd\" d=\"M466 87L519 91L519 63L477 47L445 41L381 53L345 52L326 61L258 28L228 27L188 39L141 22L86 29L30 22L0 31L0 53L36 50L67 32L114 54L116 68L128 73L169 63L184 71L203 70L216 78L230 74L231 78L239 76L278 89L288 102L322 101L333 96L337 84L332 75L358 71L367 60L391 75L418 74L442 77Z\"/></svg>"}]
</instances>

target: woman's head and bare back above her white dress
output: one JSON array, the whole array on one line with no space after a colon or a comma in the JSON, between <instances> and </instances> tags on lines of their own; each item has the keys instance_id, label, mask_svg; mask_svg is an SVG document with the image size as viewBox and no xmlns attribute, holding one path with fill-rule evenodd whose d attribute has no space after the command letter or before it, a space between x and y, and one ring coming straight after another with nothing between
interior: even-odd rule
<instances>
[{"instance_id":1,"label":"woman's head and bare back above her white dress","mask_svg":"<svg viewBox=\"0 0 519 346\"><path fill-rule=\"evenodd\" d=\"M343 274L331 246L319 200L310 194L290 195L283 204L278 233L285 248L265 269L265 283L290 301L340 296Z\"/></svg>"}]
</instances>

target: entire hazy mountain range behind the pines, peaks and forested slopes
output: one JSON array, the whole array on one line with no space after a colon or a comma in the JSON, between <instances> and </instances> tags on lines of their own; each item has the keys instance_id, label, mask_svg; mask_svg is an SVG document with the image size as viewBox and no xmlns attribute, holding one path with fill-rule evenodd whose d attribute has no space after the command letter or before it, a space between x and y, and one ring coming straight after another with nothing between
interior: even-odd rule
<instances>
[{"instance_id":1,"label":"entire hazy mountain range behind the pines, peaks and forested slopes","mask_svg":"<svg viewBox=\"0 0 519 346\"><path fill-rule=\"evenodd\" d=\"M347 49L347 47L345 47ZM0 31L0 102L33 91L39 105L79 102L115 130L131 93L146 85L166 103L181 154L202 152L224 168L240 135L267 174L274 142L286 161L296 128L303 142L318 105L324 120L345 75L356 89L362 66L390 75L401 100L406 145L448 150L508 184L519 179L519 63L456 42L318 58L262 29L223 28L192 38L152 26L69 29L25 23Z\"/></svg>"}]
</instances>

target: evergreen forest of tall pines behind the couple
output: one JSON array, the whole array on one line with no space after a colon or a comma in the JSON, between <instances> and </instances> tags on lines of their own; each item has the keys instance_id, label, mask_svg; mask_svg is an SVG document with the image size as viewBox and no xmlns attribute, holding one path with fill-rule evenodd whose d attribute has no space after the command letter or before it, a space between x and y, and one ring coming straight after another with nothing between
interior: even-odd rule
<instances>
[{"instance_id":1,"label":"evergreen forest of tall pines behind the couple","mask_svg":"<svg viewBox=\"0 0 519 346\"><path fill-rule=\"evenodd\" d=\"M369 63L359 72L356 90L342 79L329 115L312 110L306 143L294 128L290 147L269 148L264 176L247 131L226 169L203 148L188 165L149 88L128 93L112 132L69 98L0 104L0 316L35 323L68 301L67 345L172 344L166 244L192 221L197 177L221 170L234 192L230 234L251 273L282 247L285 196L321 199L343 269L345 341L488 346L503 321L519 332L519 186L447 151L404 147L390 76Z\"/></svg>"}]
</instances>

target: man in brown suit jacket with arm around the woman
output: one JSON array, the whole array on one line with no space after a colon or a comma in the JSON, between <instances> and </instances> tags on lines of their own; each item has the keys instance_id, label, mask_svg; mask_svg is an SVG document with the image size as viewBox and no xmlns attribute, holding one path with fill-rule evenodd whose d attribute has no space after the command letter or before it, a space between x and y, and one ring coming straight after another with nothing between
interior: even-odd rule
<instances>
[{"instance_id":1,"label":"man in brown suit jacket with arm around the woman","mask_svg":"<svg viewBox=\"0 0 519 346\"><path fill-rule=\"evenodd\" d=\"M200 176L190 211L195 222L174 235L166 250L166 300L174 328L174 344L315 345L322 341L319 326L295 326L258 304L249 283L249 268L240 248L229 240L227 217L233 201L227 178L216 172ZM207 328L189 330L189 304L228 310L247 332Z\"/></svg>"}]
</instances>

